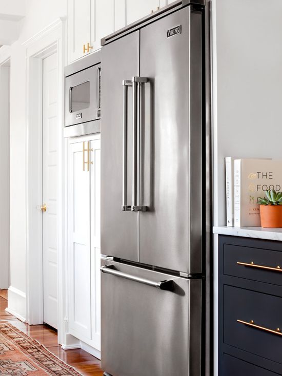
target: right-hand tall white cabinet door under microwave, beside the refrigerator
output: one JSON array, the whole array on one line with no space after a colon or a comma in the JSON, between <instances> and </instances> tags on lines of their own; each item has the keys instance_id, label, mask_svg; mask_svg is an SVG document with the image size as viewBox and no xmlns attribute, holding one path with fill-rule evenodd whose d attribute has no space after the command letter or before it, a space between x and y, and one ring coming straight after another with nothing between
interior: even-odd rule
<instances>
[{"instance_id":1,"label":"right-hand tall white cabinet door under microwave, beside the refrigerator","mask_svg":"<svg viewBox=\"0 0 282 376\"><path fill-rule=\"evenodd\" d=\"M91 341L100 351L100 140L91 145Z\"/></svg>"}]
</instances>

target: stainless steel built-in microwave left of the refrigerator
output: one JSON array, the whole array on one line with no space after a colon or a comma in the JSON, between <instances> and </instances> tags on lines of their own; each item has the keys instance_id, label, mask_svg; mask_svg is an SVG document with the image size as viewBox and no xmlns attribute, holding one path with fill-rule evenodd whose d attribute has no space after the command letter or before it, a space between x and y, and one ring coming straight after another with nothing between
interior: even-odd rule
<instances>
[{"instance_id":1,"label":"stainless steel built-in microwave left of the refrigerator","mask_svg":"<svg viewBox=\"0 0 282 376\"><path fill-rule=\"evenodd\" d=\"M65 137L100 132L100 52L65 67Z\"/></svg>"}]
</instances>

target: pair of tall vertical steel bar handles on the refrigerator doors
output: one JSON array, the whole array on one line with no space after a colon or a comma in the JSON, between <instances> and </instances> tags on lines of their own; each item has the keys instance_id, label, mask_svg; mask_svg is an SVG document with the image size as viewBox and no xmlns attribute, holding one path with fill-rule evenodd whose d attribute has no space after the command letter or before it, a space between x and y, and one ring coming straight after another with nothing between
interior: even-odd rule
<instances>
[{"instance_id":1,"label":"pair of tall vertical steel bar handles on the refrigerator doors","mask_svg":"<svg viewBox=\"0 0 282 376\"><path fill-rule=\"evenodd\" d=\"M123 212L145 212L146 206L137 205L137 132L140 132L140 87L147 82L147 77L132 77L123 80L124 108L123 108ZM127 204L127 113L128 113L128 87L132 87L133 97L133 171L132 171L132 204Z\"/></svg>"}]
</instances>

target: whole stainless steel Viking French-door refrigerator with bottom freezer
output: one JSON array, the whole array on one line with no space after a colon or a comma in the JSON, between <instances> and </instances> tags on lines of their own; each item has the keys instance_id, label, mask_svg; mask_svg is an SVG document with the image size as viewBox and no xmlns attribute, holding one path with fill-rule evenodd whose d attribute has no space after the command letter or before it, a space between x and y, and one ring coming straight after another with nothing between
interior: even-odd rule
<instances>
[{"instance_id":1,"label":"whole stainless steel Viking French-door refrigerator with bottom freezer","mask_svg":"<svg viewBox=\"0 0 282 376\"><path fill-rule=\"evenodd\" d=\"M190 3L103 39L105 375L204 371L204 6Z\"/></svg>"}]
</instances>

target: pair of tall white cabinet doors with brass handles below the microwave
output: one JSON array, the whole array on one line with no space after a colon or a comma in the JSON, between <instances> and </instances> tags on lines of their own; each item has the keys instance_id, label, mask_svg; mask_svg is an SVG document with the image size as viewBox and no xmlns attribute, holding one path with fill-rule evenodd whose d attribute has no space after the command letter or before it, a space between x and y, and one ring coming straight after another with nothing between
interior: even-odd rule
<instances>
[{"instance_id":1,"label":"pair of tall white cabinet doors with brass handles below the microwave","mask_svg":"<svg viewBox=\"0 0 282 376\"><path fill-rule=\"evenodd\" d=\"M70 139L68 156L69 332L100 351L100 136Z\"/></svg>"}]
</instances>

